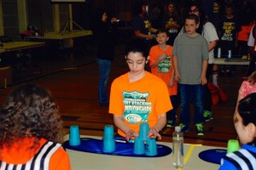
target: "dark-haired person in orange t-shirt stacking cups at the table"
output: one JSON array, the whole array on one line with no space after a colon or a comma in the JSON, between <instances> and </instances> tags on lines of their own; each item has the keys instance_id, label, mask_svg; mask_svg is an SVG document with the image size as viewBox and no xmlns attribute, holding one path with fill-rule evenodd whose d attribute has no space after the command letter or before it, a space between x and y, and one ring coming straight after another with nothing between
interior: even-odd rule
<instances>
[{"instance_id":1,"label":"dark-haired person in orange t-shirt stacking cups at the table","mask_svg":"<svg viewBox=\"0 0 256 170\"><path fill-rule=\"evenodd\" d=\"M125 54L130 71L112 82L109 113L118 134L128 141L138 136L141 122L149 124L148 138L160 138L166 112L172 110L166 84L145 71L148 50L143 42L131 42Z\"/></svg>"}]
</instances>

